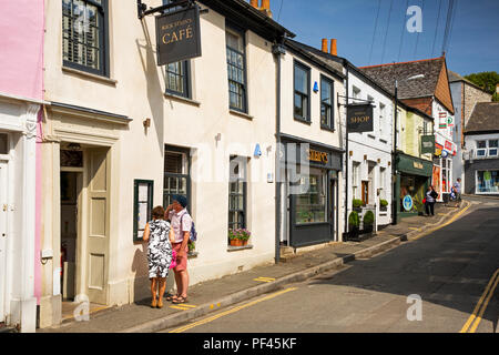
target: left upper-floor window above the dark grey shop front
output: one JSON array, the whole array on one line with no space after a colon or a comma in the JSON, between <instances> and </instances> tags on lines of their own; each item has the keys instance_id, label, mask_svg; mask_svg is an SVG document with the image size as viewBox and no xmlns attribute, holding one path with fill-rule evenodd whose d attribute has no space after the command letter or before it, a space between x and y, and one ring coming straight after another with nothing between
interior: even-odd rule
<instances>
[{"instance_id":1,"label":"left upper-floor window above the dark grey shop front","mask_svg":"<svg viewBox=\"0 0 499 355\"><path fill-rule=\"evenodd\" d=\"M310 69L295 62L294 78L295 119L310 122Z\"/></svg>"}]
</instances>

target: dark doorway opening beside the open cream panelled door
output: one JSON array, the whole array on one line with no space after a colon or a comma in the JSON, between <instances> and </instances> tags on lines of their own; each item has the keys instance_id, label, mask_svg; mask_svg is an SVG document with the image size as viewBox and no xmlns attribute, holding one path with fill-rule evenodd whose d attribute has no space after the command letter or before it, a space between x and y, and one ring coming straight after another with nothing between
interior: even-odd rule
<instances>
[{"instance_id":1,"label":"dark doorway opening beside the open cream panelled door","mask_svg":"<svg viewBox=\"0 0 499 355\"><path fill-rule=\"evenodd\" d=\"M63 301L74 301L77 263L80 262L80 199L83 173L61 169L61 291Z\"/></svg>"}]
</instances>

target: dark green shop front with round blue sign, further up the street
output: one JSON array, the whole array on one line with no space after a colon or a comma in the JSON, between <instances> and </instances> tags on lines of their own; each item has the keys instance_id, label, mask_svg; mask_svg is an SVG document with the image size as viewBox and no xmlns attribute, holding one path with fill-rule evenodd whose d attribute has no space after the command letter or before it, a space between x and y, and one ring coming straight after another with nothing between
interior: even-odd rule
<instances>
[{"instance_id":1,"label":"dark green shop front with round blue sign, further up the street","mask_svg":"<svg viewBox=\"0 0 499 355\"><path fill-rule=\"evenodd\" d=\"M424 212L422 200L432 172L431 161L397 154L397 220Z\"/></svg>"}]
</instances>

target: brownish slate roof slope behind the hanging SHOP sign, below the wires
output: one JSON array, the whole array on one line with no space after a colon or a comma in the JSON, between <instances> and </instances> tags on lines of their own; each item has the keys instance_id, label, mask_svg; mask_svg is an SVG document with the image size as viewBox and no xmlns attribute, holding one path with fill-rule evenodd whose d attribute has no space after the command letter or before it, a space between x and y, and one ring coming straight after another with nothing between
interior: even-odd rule
<instances>
[{"instance_id":1,"label":"brownish slate roof slope behind the hanging SHOP sign, below the wires","mask_svg":"<svg viewBox=\"0 0 499 355\"><path fill-rule=\"evenodd\" d=\"M398 98L415 99L434 97L444 65L444 57L411 62L360 67L368 77L376 80L391 94L395 94L395 80L398 80ZM406 80L414 75L425 78Z\"/></svg>"}]
</instances>

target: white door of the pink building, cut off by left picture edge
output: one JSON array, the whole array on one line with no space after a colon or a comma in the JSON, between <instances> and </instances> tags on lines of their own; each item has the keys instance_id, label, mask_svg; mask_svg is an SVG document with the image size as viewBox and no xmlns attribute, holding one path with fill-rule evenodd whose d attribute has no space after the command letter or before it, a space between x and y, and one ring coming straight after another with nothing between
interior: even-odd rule
<instances>
[{"instance_id":1,"label":"white door of the pink building, cut off by left picture edge","mask_svg":"<svg viewBox=\"0 0 499 355\"><path fill-rule=\"evenodd\" d=\"M0 161L0 325L6 322L7 277L7 212L8 212L7 162Z\"/></svg>"}]
</instances>

